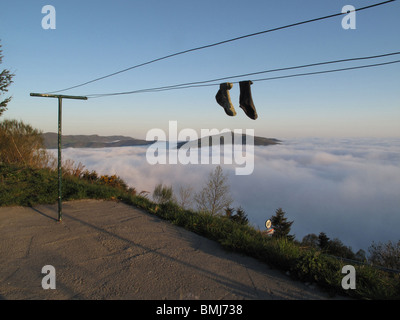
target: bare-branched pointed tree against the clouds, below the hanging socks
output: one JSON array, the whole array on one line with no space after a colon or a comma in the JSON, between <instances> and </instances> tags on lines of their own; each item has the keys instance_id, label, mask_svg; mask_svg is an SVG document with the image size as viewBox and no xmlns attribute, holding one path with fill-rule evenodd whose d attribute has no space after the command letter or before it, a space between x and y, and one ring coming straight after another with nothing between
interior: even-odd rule
<instances>
[{"instance_id":1,"label":"bare-branched pointed tree against the clouds, below the hanging socks","mask_svg":"<svg viewBox=\"0 0 400 320\"><path fill-rule=\"evenodd\" d=\"M221 215L224 209L229 207L233 202L229 185L227 185L228 177L223 174L221 166L217 166L209 175L208 181L204 188L195 195L194 201L200 211L205 211L211 215Z\"/></svg>"}]
</instances>

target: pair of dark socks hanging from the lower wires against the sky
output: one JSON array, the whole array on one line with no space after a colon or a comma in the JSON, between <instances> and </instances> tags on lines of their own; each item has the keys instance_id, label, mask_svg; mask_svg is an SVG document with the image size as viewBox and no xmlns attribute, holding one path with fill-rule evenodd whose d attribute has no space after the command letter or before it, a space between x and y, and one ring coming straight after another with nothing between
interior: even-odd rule
<instances>
[{"instance_id":1,"label":"pair of dark socks hanging from the lower wires against the sky","mask_svg":"<svg viewBox=\"0 0 400 320\"><path fill-rule=\"evenodd\" d=\"M253 103L253 98L251 96L250 85L252 85L252 84L253 84L252 81L239 82L239 86L240 86L239 103L240 103L240 107L243 109L245 114L249 118L255 120L255 119L257 119L258 115L257 115L256 108L254 106L254 103ZM231 97L229 94L229 90L232 89L232 87L233 87L233 84L230 82L221 83L219 85L219 90L217 92L217 95L215 96L218 104L220 106L222 106L225 110L225 113L231 117L236 115L236 111L232 104Z\"/></svg>"}]
</instances>

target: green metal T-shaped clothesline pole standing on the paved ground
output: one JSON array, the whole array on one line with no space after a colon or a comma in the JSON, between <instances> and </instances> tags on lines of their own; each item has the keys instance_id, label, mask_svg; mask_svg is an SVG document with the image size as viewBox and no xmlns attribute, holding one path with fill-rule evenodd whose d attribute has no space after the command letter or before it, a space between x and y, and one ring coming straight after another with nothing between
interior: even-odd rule
<instances>
[{"instance_id":1,"label":"green metal T-shaped clothesline pole standing on the paved ground","mask_svg":"<svg viewBox=\"0 0 400 320\"><path fill-rule=\"evenodd\" d=\"M42 98L57 98L58 99L58 221L62 220L62 162L61 162L61 149L62 149L62 99L76 99L76 100L87 100L87 97L82 96L66 96L59 94L47 94L47 93L31 93L31 97L42 97Z\"/></svg>"}]
</instances>

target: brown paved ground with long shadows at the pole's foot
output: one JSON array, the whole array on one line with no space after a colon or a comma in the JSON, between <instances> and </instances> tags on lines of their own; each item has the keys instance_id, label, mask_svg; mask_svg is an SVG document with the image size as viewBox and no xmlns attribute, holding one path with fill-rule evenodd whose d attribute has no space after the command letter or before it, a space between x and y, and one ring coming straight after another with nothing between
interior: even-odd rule
<instances>
[{"instance_id":1,"label":"brown paved ground with long shadows at the pole's foot","mask_svg":"<svg viewBox=\"0 0 400 320\"><path fill-rule=\"evenodd\" d=\"M122 203L66 202L56 218L57 205L0 208L0 299L330 299Z\"/></svg>"}]
</instances>

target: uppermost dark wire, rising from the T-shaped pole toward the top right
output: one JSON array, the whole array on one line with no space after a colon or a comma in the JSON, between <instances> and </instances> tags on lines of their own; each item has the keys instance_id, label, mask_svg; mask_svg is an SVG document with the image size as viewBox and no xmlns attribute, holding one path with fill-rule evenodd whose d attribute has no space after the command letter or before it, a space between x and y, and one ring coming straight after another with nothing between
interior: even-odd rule
<instances>
[{"instance_id":1,"label":"uppermost dark wire, rising from the T-shaped pole toward the top right","mask_svg":"<svg viewBox=\"0 0 400 320\"><path fill-rule=\"evenodd\" d=\"M394 2L394 1L396 1L396 0L388 0L388 1L380 2L380 3L376 3L376 4L372 4L372 5L369 5L369 6L365 6L365 7L361 7L361 8L355 9L354 11L362 11L362 10L374 8L374 7L381 6L381 5L384 5L384 4L387 4L387 3L390 3L390 2ZM67 91L67 90L75 89L75 88L78 88L78 87L82 87L82 86L88 85L90 83L93 83L93 82L96 82L96 81L100 81L100 80L103 80L103 79L118 75L118 74L123 73L123 72L127 72L127 71L132 70L132 69L136 69L136 68L139 68L139 67L142 67L142 66L145 66L145 65L149 65L149 64L161 61L161 60L168 59L168 58L172 58L172 57L175 57L175 56L178 56L178 55L183 55L183 54L186 54L186 53L189 53L189 52L198 51L198 50L202 50L202 49L206 49L206 48L211 48L211 47L219 46L219 45L222 45L222 44L225 44L225 43L229 43L229 42L233 42L233 41L237 41L237 40L241 40L241 39L245 39L245 38L250 38L250 37L258 36L258 35L269 33L269 32L274 32L274 31L278 31L278 30L292 28L292 27L296 27L296 26L307 24L307 23L311 23L311 22L316 22L316 21L321 21L321 20L333 18L333 17L338 17L338 16L341 16L343 14L347 14L347 13L342 13L342 12L335 13L335 14L331 14L331 15L328 15L328 16L324 16L324 17L319 17L319 18L314 18L314 19L305 20L305 21L301 21L301 22L296 22L296 23L285 25L285 26L281 26L281 27L277 27L277 28L273 28L273 29L268 29L268 30L263 30L263 31L255 32L255 33L250 33L250 34L246 34L246 35L243 35L243 36L239 36L239 37L235 37L235 38L231 38L231 39L215 42L215 43L212 43L212 44L207 44L207 45L203 45L203 46L200 46L200 47L196 47L196 48L187 49L187 50L184 50L184 51L172 53L172 54L169 54L169 55L157 58L157 59L153 59L153 60L150 60L150 61L147 61L147 62L144 62L144 63L140 63L140 64L134 65L132 67L129 67L129 68L126 68L126 69L123 69L123 70L120 70L120 71L117 71L117 72L114 72L114 73L111 73L111 74L108 74L108 75L93 79L93 80L90 80L90 81L87 81L87 82L84 82L84 83L81 83L81 84L78 84L78 85L75 85L75 86L72 86L72 87L69 87L69 88L65 88L65 89L57 90L57 91L52 91L52 92L49 92L49 93L57 93L57 92L62 92L62 91Z\"/></svg>"}]
</instances>

